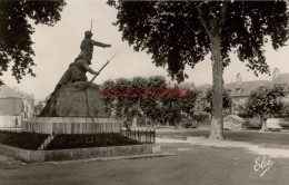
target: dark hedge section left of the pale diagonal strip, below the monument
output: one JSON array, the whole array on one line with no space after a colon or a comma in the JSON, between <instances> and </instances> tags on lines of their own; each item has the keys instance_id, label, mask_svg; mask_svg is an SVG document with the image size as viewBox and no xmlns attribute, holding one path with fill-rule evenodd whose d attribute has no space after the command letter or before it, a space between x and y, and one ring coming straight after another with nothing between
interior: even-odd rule
<instances>
[{"instance_id":1,"label":"dark hedge section left of the pale diagonal strip, below the monument","mask_svg":"<svg viewBox=\"0 0 289 185\"><path fill-rule=\"evenodd\" d=\"M37 133L13 133L0 130L0 144L37 150L41 144L47 139L48 134Z\"/></svg>"}]
</instances>

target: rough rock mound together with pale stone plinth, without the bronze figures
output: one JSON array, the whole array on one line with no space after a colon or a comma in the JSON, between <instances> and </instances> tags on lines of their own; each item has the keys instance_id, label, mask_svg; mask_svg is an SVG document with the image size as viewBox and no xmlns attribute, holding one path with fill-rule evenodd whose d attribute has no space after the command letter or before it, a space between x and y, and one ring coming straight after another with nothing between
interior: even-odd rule
<instances>
[{"instance_id":1,"label":"rough rock mound together with pale stone plinth, without the bronze figures","mask_svg":"<svg viewBox=\"0 0 289 185\"><path fill-rule=\"evenodd\" d=\"M104 113L98 85L77 81L54 91L40 117L26 120L22 130L44 134L119 133L121 125Z\"/></svg>"}]
</instances>

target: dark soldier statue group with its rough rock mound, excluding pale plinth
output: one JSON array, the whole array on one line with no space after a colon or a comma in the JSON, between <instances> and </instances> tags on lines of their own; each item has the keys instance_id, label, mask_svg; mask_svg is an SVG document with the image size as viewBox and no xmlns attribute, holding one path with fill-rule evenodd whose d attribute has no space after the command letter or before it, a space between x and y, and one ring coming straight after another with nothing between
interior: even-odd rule
<instances>
[{"instance_id":1,"label":"dark soldier statue group with its rough rock mound, excluding pale plinth","mask_svg":"<svg viewBox=\"0 0 289 185\"><path fill-rule=\"evenodd\" d=\"M89 67L92 60L93 46L109 48L111 45L92 40L92 35L91 31L84 32L79 56L69 65L53 93L49 96L40 116L103 116L98 86L88 82L86 74L88 71L94 76L99 75L98 71Z\"/></svg>"}]
</instances>

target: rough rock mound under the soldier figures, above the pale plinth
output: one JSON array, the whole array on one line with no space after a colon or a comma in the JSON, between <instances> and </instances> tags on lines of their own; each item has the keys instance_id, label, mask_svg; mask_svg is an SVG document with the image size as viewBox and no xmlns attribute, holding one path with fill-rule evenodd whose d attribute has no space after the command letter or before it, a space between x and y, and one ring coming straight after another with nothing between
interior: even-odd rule
<instances>
[{"instance_id":1,"label":"rough rock mound under the soldier figures, above the pale plinth","mask_svg":"<svg viewBox=\"0 0 289 185\"><path fill-rule=\"evenodd\" d=\"M48 100L40 117L108 117L99 86L88 81L63 85Z\"/></svg>"}]
</instances>

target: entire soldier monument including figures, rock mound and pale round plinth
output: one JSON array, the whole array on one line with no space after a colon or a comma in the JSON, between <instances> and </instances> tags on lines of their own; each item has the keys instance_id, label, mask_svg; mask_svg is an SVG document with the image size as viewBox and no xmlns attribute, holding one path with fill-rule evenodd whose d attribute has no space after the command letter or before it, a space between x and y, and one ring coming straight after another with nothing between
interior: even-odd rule
<instances>
[{"instance_id":1,"label":"entire soldier monument including figures, rock mound and pale round plinth","mask_svg":"<svg viewBox=\"0 0 289 185\"><path fill-rule=\"evenodd\" d=\"M87 71L98 76L89 67L92 60L93 47L109 48L111 45L91 39L92 32L86 31L80 46L80 53L60 78L54 90L47 98L47 104L38 117L28 119L22 129L36 133L98 133L117 132L121 123L103 110L99 86L88 81Z\"/></svg>"}]
</instances>

